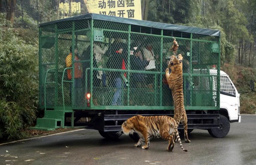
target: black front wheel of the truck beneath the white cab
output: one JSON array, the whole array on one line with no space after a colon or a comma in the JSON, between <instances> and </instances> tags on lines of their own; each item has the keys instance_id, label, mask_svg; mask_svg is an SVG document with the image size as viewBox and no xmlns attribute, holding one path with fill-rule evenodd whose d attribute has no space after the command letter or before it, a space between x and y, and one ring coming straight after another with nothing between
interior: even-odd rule
<instances>
[{"instance_id":1,"label":"black front wheel of the truck beneath the white cab","mask_svg":"<svg viewBox=\"0 0 256 165\"><path fill-rule=\"evenodd\" d=\"M220 128L210 128L208 132L214 138L223 138L230 130L230 122L226 116L220 115L218 124L220 124Z\"/></svg>"}]
</instances>

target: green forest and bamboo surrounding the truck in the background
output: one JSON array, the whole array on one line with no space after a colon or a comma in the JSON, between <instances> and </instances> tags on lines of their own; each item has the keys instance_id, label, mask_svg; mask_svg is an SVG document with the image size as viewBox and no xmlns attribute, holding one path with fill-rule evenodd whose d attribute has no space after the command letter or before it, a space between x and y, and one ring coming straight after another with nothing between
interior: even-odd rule
<instances>
[{"instance_id":1,"label":"green forest and bamboo surrounding the truck in the background","mask_svg":"<svg viewBox=\"0 0 256 165\"><path fill-rule=\"evenodd\" d=\"M61 0L0 0L0 140L27 136L38 111L38 25L62 18ZM80 12L88 13L84 0ZM128 1L128 0L125 0ZM141 0L142 20L221 31L221 69L256 114L256 0Z\"/></svg>"}]
</instances>

